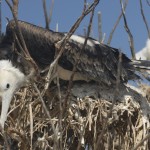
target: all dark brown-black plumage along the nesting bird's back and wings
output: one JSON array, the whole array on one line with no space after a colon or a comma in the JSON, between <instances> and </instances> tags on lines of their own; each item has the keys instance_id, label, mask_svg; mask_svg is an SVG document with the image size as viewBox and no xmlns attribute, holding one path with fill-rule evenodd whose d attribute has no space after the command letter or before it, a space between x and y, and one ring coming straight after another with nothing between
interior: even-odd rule
<instances>
[{"instance_id":1,"label":"all dark brown-black plumage along the nesting bird's back and wings","mask_svg":"<svg viewBox=\"0 0 150 150\"><path fill-rule=\"evenodd\" d=\"M65 34L23 21L18 21L18 23L31 56L40 67L45 68L54 60L54 44L61 40ZM13 42L13 32L17 33L17 29L14 21L10 21L7 25L6 38L2 43ZM77 72L91 80L106 84L115 83L119 60L118 49L98 44L92 38L89 38L89 41L93 46L87 44L80 55L83 43L70 39L65 45L65 51L59 60L59 65L65 69L72 70L73 65L79 59L76 68ZM122 54L121 82L124 83L137 78L138 76L135 74L135 68L131 64L131 60Z\"/></svg>"}]
</instances>

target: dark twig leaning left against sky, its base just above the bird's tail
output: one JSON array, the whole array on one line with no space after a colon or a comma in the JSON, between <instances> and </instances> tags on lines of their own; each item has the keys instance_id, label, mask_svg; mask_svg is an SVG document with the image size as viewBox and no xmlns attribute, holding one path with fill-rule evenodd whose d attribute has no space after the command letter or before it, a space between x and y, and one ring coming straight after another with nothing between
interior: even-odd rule
<instances>
[{"instance_id":1,"label":"dark twig leaning left against sky, its base just above the bird's tail","mask_svg":"<svg viewBox=\"0 0 150 150\"><path fill-rule=\"evenodd\" d=\"M131 54L132 54L132 59L136 59L133 36L132 36L131 31L130 31L130 29L128 27L128 24L127 24L127 20L126 20L126 16L125 16L125 10L124 10L124 6L123 6L123 3L122 3L122 0L120 0L120 5L121 5L121 9L122 9L125 29L126 29L126 32L128 33L128 36L129 36L129 43L130 43L130 50L131 50Z\"/></svg>"}]
</instances>

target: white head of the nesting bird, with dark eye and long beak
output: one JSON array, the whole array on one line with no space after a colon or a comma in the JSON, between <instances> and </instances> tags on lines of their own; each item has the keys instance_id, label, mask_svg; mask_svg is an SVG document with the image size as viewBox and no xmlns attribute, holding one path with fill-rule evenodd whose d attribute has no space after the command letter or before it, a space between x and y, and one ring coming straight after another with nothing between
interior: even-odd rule
<instances>
[{"instance_id":1,"label":"white head of the nesting bird, with dark eye and long beak","mask_svg":"<svg viewBox=\"0 0 150 150\"><path fill-rule=\"evenodd\" d=\"M0 124L4 128L7 112L15 91L25 82L25 75L9 60L0 61L0 99L2 100Z\"/></svg>"}]
</instances>

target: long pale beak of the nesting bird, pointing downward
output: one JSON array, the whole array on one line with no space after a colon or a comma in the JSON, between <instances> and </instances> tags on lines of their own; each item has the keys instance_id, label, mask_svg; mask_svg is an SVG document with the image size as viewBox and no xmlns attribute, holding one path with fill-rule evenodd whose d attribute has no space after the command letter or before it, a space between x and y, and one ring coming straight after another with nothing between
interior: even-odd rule
<instances>
[{"instance_id":1,"label":"long pale beak of the nesting bird, pointing downward","mask_svg":"<svg viewBox=\"0 0 150 150\"><path fill-rule=\"evenodd\" d=\"M4 128L5 121L7 120L7 113L10 106L10 102L12 99L13 93L4 93L2 98L2 108L1 108L1 117L0 117L0 124L1 127Z\"/></svg>"}]
</instances>

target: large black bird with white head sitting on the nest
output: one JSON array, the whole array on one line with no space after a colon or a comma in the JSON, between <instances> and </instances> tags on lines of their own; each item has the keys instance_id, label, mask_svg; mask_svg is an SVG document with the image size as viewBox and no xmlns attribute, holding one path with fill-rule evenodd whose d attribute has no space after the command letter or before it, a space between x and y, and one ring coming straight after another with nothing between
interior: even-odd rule
<instances>
[{"instance_id":1,"label":"large black bird with white head sitting on the nest","mask_svg":"<svg viewBox=\"0 0 150 150\"><path fill-rule=\"evenodd\" d=\"M54 60L55 43L60 41L65 33L54 32L23 21L18 21L18 25L31 57L40 69L45 69ZM15 22L12 20L8 23L6 35L0 44L0 97L2 99L0 123L3 128L13 94L28 79L26 66L17 61L17 54L13 51L14 32L18 34ZM73 66L79 59L74 80L94 80L113 85L117 78L118 49L88 38L87 45L80 55L84 41L84 37L77 35L72 35L68 40L58 62L59 78L69 80ZM17 42L15 45L19 51ZM121 83L139 79L132 61L125 54L122 54L121 65Z\"/></svg>"}]
</instances>

